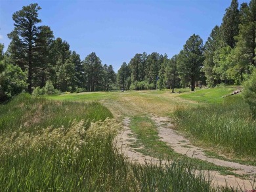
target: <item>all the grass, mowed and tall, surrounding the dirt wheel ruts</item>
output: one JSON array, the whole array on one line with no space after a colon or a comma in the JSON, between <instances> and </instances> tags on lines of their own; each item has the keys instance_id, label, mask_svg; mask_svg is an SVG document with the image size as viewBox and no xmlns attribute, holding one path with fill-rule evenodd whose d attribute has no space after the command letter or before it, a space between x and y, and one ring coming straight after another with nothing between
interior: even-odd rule
<instances>
[{"instance_id":1,"label":"all the grass, mowed and tall, surrounding the dirt wheel ruts","mask_svg":"<svg viewBox=\"0 0 256 192\"><path fill-rule=\"evenodd\" d=\"M148 115L171 117L195 144L230 159L255 162L255 121L234 88L84 92L0 105L0 188L3 191L234 191L213 189L197 161L158 141ZM180 92L180 93L179 93ZM113 144L123 117L142 153L171 164L131 164ZM140 145L140 143L137 143ZM219 151L218 149L222 149ZM177 158L178 157L178 158ZM204 166L204 165L203 165ZM204 167L205 168L205 167ZM216 168L218 169L218 168Z\"/></svg>"}]
</instances>

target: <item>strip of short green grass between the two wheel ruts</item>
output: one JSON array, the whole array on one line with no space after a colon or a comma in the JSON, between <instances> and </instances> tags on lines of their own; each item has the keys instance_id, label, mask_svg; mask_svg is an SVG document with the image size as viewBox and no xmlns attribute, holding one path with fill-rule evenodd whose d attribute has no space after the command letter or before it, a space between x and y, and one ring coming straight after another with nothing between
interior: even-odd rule
<instances>
[{"instance_id":1,"label":"strip of short green grass between the two wheel ruts","mask_svg":"<svg viewBox=\"0 0 256 192\"><path fill-rule=\"evenodd\" d=\"M169 147L165 142L160 141L158 136L158 130L154 122L149 117L133 117L131 119L131 130L137 136L138 140L133 142L131 147L135 147L135 151L142 153L143 155L150 155L156 157L161 161L164 160L175 160L175 159L190 159L185 155L176 153L171 147ZM142 148L136 149L138 146L143 146ZM213 163L208 163L207 161L202 161L200 159L192 158L190 163L193 168L197 170L215 170L219 171L223 175L234 175L240 178L244 176L234 174L232 168L227 168L224 166L217 166Z\"/></svg>"}]
</instances>

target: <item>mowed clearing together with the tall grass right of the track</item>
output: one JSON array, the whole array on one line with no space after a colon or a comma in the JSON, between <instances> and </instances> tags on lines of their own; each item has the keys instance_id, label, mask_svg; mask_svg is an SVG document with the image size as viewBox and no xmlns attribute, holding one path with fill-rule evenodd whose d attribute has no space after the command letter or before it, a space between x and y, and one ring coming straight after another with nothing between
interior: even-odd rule
<instances>
[{"instance_id":1,"label":"mowed clearing together with the tall grass right of the track","mask_svg":"<svg viewBox=\"0 0 256 192\"><path fill-rule=\"evenodd\" d=\"M232 87L188 88L127 92L95 92L48 96L50 100L96 100L108 107L114 117L171 117L194 144L210 147L230 159L255 160L255 120L241 94L223 96L236 90ZM149 126L145 126L148 127ZM221 149L221 150L220 150Z\"/></svg>"}]
</instances>

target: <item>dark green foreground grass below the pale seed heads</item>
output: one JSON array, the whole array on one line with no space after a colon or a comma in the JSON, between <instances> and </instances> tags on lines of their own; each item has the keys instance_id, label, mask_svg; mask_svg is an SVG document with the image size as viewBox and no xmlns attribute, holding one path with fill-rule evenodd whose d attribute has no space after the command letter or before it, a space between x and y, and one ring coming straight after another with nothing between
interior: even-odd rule
<instances>
[{"instance_id":1,"label":"dark green foreground grass below the pale seed heads","mask_svg":"<svg viewBox=\"0 0 256 192\"><path fill-rule=\"evenodd\" d=\"M112 138L68 149L13 151L1 156L2 191L211 191L192 165L176 161L166 166L130 164L116 153Z\"/></svg>"}]
</instances>

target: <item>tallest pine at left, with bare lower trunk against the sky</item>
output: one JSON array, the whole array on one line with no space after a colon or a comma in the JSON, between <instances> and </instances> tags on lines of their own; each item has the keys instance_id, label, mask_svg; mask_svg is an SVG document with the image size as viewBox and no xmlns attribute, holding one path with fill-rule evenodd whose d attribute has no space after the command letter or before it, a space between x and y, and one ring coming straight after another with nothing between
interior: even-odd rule
<instances>
[{"instance_id":1,"label":"tallest pine at left, with bare lower trunk against the sky","mask_svg":"<svg viewBox=\"0 0 256 192\"><path fill-rule=\"evenodd\" d=\"M28 92L32 94L32 75L35 63L35 41L39 28L36 26L41 20L38 18L38 10L41 7L37 3L22 7L22 10L14 12L14 29L8 34L11 39L9 52L15 64L28 71Z\"/></svg>"}]
</instances>

